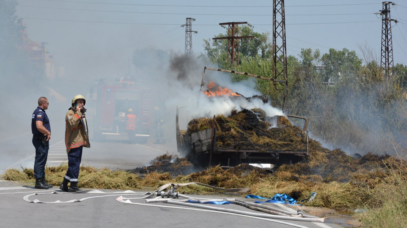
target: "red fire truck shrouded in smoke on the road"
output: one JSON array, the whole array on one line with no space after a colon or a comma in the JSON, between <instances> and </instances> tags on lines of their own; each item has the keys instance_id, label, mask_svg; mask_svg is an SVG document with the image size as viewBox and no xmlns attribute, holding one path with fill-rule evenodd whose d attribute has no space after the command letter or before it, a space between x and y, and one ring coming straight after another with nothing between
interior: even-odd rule
<instances>
[{"instance_id":1,"label":"red fire truck shrouded in smoke on the road","mask_svg":"<svg viewBox=\"0 0 407 228\"><path fill-rule=\"evenodd\" d=\"M145 88L141 82L133 81L130 77L122 77L120 81L111 84L101 79L96 88L94 140L105 140L109 135L126 136L120 139L127 139L126 115L127 110L132 108L137 117L138 142L147 143L152 122L150 88Z\"/></svg>"}]
</instances>

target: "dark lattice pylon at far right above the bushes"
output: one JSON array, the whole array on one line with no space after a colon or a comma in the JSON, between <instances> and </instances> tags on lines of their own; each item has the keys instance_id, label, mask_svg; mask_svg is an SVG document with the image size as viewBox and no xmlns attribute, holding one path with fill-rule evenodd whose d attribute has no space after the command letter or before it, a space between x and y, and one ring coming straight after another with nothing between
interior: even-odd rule
<instances>
[{"instance_id":1,"label":"dark lattice pylon at far right above the bushes","mask_svg":"<svg viewBox=\"0 0 407 228\"><path fill-rule=\"evenodd\" d=\"M393 43L392 43L392 25L391 22L397 23L397 20L390 19L390 4L393 2L382 2L383 10L380 11L382 16L382 45L381 45L381 65L385 70L385 75L389 77L389 69L393 67Z\"/></svg>"}]
</instances>

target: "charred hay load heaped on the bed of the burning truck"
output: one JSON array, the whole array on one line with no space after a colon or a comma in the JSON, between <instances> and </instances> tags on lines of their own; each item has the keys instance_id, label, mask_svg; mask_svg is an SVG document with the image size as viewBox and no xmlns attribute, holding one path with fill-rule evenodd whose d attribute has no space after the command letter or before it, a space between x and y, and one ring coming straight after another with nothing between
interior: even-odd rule
<instances>
[{"instance_id":1,"label":"charred hay load heaped on the bed of the burning truck","mask_svg":"<svg viewBox=\"0 0 407 228\"><path fill-rule=\"evenodd\" d=\"M272 127L275 123L277 127ZM187 134L212 128L213 118L196 118L188 123ZM303 151L306 135L284 116L268 117L259 108L232 110L228 117L215 116L218 148Z\"/></svg>"}]
</instances>

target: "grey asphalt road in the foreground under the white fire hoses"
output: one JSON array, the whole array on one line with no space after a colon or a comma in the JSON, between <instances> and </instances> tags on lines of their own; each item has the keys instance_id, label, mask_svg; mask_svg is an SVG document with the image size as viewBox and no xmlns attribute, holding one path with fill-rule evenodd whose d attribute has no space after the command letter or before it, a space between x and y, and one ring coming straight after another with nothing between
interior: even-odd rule
<instances>
[{"instance_id":1,"label":"grey asphalt road in the foreground under the white fire hoses","mask_svg":"<svg viewBox=\"0 0 407 228\"><path fill-rule=\"evenodd\" d=\"M206 211L196 211L193 207L179 206L166 203L148 203L144 199L131 199L131 202L140 204L126 204L118 202L119 196L137 198L140 195L125 195L125 193L113 193L123 190L100 189L106 194L92 193L62 193L57 187L48 190L33 189L32 186L22 186L12 181L0 181L0 227L267 227L267 228L291 228L294 226L280 224L273 221L265 221L250 217L242 217L230 214L221 214ZM61 194L50 194L53 191ZM42 202L55 202L57 200L81 200L70 203L31 203L23 200L30 194L41 194L28 197L28 200L40 200ZM48 194L44 194L48 193ZM98 196L98 198L89 198ZM190 195L191 197L209 197ZM223 196L210 196L212 198L234 198L231 194ZM84 198L88 198L83 200ZM243 198L242 198L243 199ZM208 204L205 204L208 205ZM159 207L170 206L170 207ZM243 206L235 204L212 205L226 209L251 211ZM179 208L187 209L179 209ZM289 209L287 209L289 210ZM273 219L276 221L297 224L309 228L340 228L340 226L319 222L297 222Z\"/></svg>"}]
</instances>

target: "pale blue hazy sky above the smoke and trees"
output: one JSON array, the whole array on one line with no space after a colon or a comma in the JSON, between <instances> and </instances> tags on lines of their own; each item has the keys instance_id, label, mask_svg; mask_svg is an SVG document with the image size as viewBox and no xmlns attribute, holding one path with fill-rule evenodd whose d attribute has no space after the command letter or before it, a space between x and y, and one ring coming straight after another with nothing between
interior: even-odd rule
<instances>
[{"instance_id":1,"label":"pale blue hazy sky above the smoke and trees","mask_svg":"<svg viewBox=\"0 0 407 228\"><path fill-rule=\"evenodd\" d=\"M256 32L272 31L271 0L18 0L29 37L48 43L55 65L65 75L108 77L127 72L135 49L153 47L184 52L186 17L195 18L193 52L204 52L203 39L225 33L223 22L249 22ZM391 16L394 64L407 64L407 1L395 2ZM142 5L147 4L147 5ZM169 6L171 5L171 6ZM367 43L380 62L382 1L286 0L287 52L301 48L347 48L358 54ZM346 23L344 23L346 22ZM329 24L326 24L329 23ZM271 35L270 35L271 39Z\"/></svg>"}]
</instances>

